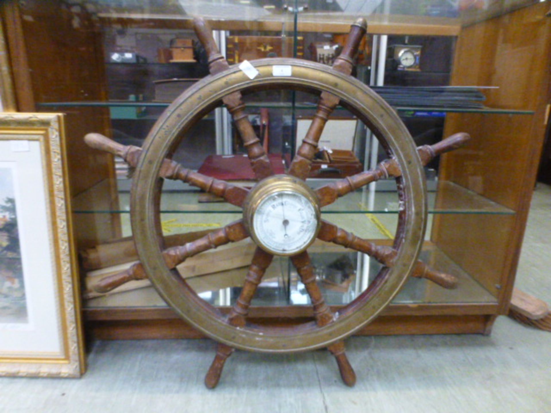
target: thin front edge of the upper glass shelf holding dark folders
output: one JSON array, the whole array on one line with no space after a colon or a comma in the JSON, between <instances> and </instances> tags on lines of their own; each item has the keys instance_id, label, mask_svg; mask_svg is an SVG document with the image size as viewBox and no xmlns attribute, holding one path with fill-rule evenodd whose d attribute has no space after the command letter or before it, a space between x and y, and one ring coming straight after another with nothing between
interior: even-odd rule
<instances>
[{"instance_id":1,"label":"thin front edge of the upper glass shelf holding dark folders","mask_svg":"<svg viewBox=\"0 0 551 413\"><path fill-rule=\"evenodd\" d=\"M118 63L117 63L118 64ZM38 103L40 107L77 107L77 106L95 106L95 107L168 107L168 102L96 102L96 101L75 101L75 102L42 102ZM270 104L247 104L247 107L265 107L268 109L281 109L293 106L290 103L270 103ZM315 109L316 104L296 104L294 106L299 110ZM337 109L343 109L342 106L337 106ZM443 112L443 113L488 113L500 115L533 115L534 111L501 109L501 108L450 108L450 107L429 107L429 106L397 106L395 109L398 112Z\"/></svg>"}]
</instances>

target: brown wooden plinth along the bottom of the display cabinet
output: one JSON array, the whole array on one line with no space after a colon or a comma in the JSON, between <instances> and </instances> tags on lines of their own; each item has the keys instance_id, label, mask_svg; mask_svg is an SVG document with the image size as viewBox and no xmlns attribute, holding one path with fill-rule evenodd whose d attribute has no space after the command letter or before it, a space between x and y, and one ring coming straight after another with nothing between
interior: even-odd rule
<instances>
[{"instance_id":1,"label":"brown wooden plinth along the bottom of the display cabinet","mask_svg":"<svg viewBox=\"0 0 551 413\"><path fill-rule=\"evenodd\" d=\"M496 316L491 314L456 316L381 316L355 335L398 334L490 334ZM301 319L258 318L252 322L264 325L288 326ZM90 339L148 340L199 339L202 333L181 319L88 320Z\"/></svg>"}]
</instances>

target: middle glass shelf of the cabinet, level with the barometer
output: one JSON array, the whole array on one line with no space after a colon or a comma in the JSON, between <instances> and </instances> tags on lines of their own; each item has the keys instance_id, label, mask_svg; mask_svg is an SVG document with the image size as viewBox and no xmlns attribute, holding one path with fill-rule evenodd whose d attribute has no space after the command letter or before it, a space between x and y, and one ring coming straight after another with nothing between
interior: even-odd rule
<instances>
[{"instance_id":1,"label":"middle glass shelf of the cabinet, level with the barometer","mask_svg":"<svg viewBox=\"0 0 551 413\"><path fill-rule=\"evenodd\" d=\"M129 180L118 180L119 188L129 188ZM122 181L122 182L121 182ZM314 182L312 182L314 181ZM307 181L312 187L315 180ZM324 180L323 182L327 182ZM171 182L172 184L172 182ZM199 202L199 189L184 183L180 190L164 191L161 197L161 213L163 214L239 214L241 209L226 202ZM252 183L251 183L252 184ZM119 205L115 209L95 208L94 199L99 199L96 193L105 193L109 181L102 181L73 200L73 213L77 214L129 214L130 194L128 191L118 193ZM175 186L171 186L175 188ZM176 186L177 187L177 186ZM445 203L437 199L438 192L444 193ZM372 206L370 206L372 205ZM493 202L473 191L469 191L453 182L437 182L436 191L428 193L429 214L497 214L512 215L515 212L505 206ZM104 206L104 205L102 205ZM369 191L368 187L347 194L336 202L323 208L323 214L397 214L398 198L396 191Z\"/></svg>"}]
</instances>

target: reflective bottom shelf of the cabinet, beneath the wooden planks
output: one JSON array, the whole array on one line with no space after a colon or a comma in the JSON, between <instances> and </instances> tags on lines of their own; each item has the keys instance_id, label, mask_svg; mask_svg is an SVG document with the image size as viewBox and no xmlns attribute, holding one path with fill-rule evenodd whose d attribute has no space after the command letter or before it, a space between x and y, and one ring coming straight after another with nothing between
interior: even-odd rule
<instances>
[{"instance_id":1,"label":"reflective bottom shelf of the cabinet, beneath the wooden planks","mask_svg":"<svg viewBox=\"0 0 551 413\"><path fill-rule=\"evenodd\" d=\"M337 247L338 248L338 247ZM347 305L363 291L381 269L381 264L375 259L358 253L347 252L341 248L334 252L315 253L311 258L317 274L317 281L322 294L329 305ZM347 259L350 262L349 278L341 284L334 282L329 275L328 264L336 259ZM366 259L363 265L358 265L358 259ZM445 253L433 244L425 243L420 259L436 270L453 274L458 278L455 290L446 290L424 279L410 278L393 304L449 304L449 303L482 303L495 304L497 299L482 285L474 280L461 267L453 262ZM361 271L357 269L361 268ZM220 273L207 274L188 278L188 283L207 302L216 306L234 305L241 291L246 275L246 267ZM330 281L328 281L330 280ZM84 308L116 308L116 307L168 307L148 281L141 282L141 288L110 294L85 300ZM136 284L138 286L138 284ZM299 281L296 270L290 265L289 259L277 257L264 275L263 282L252 300L253 306L304 306L311 305L305 287Z\"/></svg>"}]
</instances>

